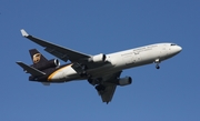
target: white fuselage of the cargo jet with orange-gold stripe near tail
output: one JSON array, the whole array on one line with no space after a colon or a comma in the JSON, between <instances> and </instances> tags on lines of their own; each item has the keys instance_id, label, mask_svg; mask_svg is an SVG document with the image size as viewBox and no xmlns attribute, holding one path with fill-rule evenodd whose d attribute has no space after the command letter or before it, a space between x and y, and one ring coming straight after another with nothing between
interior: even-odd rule
<instances>
[{"instance_id":1,"label":"white fuselage of the cargo jet with orange-gold stripe near tail","mask_svg":"<svg viewBox=\"0 0 200 121\"><path fill-rule=\"evenodd\" d=\"M99 78L107 74L109 75L110 73L118 72L123 69L144 65L153 62L159 63L176 56L181 50L181 47L174 43L157 43L109 53L107 54L106 60L109 62L108 64L94 69L88 69L87 73L91 74L93 78ZM72 64L69 64L59 69L57 72L53 72L51 75L49 75L48 80L51 82L66 82L84 79L81 78L77 71L71 68L71 65Z\"/></svg>"}]
</instances>

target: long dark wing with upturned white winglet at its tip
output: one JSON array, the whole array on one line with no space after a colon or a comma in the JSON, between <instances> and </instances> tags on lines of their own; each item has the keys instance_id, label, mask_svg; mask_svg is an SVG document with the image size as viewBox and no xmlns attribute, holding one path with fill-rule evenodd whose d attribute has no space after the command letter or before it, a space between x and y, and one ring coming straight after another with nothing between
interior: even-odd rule
<instances>
[{"instance_id":1,"label":"long dark wing with upturned white winglet at its tip","mask_svg":"<svg viewBox=\"0 0 200 121\"><path fill-rule=\"evenodd\" d=\"M21 33L23 37L28 38L29 40L38 43L41 47L44 47L46 51L53 54L54 57L63 60L63 61L68 61L70 60L71 62L78 62L78 61L83 61L84 59L91 58L91 56L89 54L84 54L71 49L67 49L63 47L60 47L58 44L38 39L33 36L28 34L23 29L21 30Z\"/></svg>"}]
</instances>

